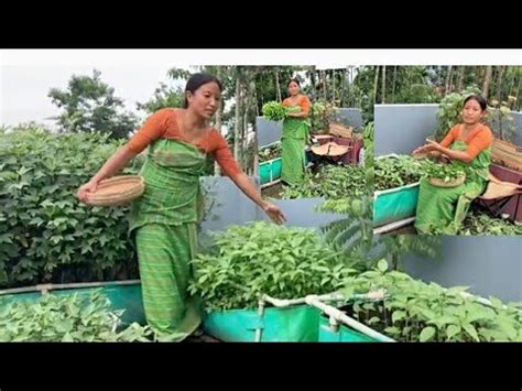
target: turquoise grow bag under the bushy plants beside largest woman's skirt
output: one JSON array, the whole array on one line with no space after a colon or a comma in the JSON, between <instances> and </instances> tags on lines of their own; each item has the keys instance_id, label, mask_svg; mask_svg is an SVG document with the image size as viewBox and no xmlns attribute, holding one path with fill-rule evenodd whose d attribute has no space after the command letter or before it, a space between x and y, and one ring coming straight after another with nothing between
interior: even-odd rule
<instances>
[{"instance_id":1,"label":"turquoise grow bag under the bushy plants beside largest woman's skirt","mask_svg":"<svg viewBox=\"0 0 522 391\"><path fill-rule=\"evenodd\" d=\"M261 341L317 341L320 311L307 305L269 307L264 317L257 309L216 311L204 321L205 333L225 340L255 341L255 329L262 327Z\"/></svg>"}]
</instances>

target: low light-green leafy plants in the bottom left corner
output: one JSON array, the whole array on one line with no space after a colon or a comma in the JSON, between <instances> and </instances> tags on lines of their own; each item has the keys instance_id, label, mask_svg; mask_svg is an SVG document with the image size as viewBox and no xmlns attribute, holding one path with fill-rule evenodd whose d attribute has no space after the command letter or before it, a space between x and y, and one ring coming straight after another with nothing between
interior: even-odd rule
<instances>
[{"instance_id":1,"label":"low light-green leafy plants in the bottom left corner","mask_svg":"<svg viewBox=\"0 0 522 391\"><path fill-rule=\"evenodd\" d=\"M86 296L47 294L0 307L0 341L149 341L148 326L121 327L122 314L111 311L99 291Z\"/></svg>"}]
</instances>

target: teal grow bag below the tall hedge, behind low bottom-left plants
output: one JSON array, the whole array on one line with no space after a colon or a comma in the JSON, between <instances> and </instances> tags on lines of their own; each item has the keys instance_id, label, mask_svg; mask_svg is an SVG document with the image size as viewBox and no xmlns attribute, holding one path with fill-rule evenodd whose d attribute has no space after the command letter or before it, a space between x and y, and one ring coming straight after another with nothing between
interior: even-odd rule
<instances>
[{"instance_id":1,"label":"teal grow bag below the tall hedge, behind low bottom-left plants","mask_svg":"<svg viewBox=\"0 0 522 391\"><path fill-rule=\"evenodd\" d=\"M59 284L56 287L50 285L48 294L58 296L67 296L77 293L78 295L88 295L96 290L101 290L111 303L112 309L124 309L122 322L130 324L138 322L145 324L145 313L143 309L143 302L141 298L141 283L140 281L129 282L100 282L86 284ZM85 286L79 286L85 285ZM0 291L0 307L20 301L37 301L42 297L42 292L34 287L29 292L14 293L17 290ZM13 292L13 293L11 293Z\"/></svg>"}]
</instances>

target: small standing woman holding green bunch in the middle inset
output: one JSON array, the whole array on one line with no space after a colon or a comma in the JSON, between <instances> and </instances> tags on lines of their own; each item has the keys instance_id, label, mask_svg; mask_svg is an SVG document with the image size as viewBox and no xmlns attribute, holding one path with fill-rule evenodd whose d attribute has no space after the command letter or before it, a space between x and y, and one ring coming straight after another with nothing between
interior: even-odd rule
<instances>
[{"instance_id":1,"label":"small standing woman holding green bunch in the middle inset","mask_svg":"<svg viewBox=\"0 0 522 391\"><path fill-rule=\"evenodd\" d=\"M283 122L282 171L281 180L290 185L300 184L304 180L305 146L309 138L307 120L311 102L306 95L301 94L297 79L289 82L290 97L283 100L283 107L290 112Z\"/></svg>"}]
</instances>

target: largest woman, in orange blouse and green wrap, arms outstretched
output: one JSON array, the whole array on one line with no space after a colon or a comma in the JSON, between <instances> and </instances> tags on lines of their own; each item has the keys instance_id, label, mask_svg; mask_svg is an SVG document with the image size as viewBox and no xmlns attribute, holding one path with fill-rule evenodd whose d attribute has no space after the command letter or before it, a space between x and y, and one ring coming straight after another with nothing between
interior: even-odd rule
<instances>
[{"instance_id":1,"label":"largest woman, in orange blouse and green wrap, arms outstretched","mask_svg":"<svg viewBox=\"0 0 522 391\"><path fill-rule=\"evenodd\" d=\"M184 109L153 113L99 172L78 189L88 200L98 183L115 175L149 146L140 175L145 192L131 207L130 233L135 240L143 305L148 324L159 339L183 340L196 332L202 316L187 291L189 261L197 251L202 219L199 177L211 156L224 173L276 224L285 217L264 200L233 159L226 140L209 121L220 106L222 86L214 76L193 75L185 87Z\"/></svg>"}]
</instances>

